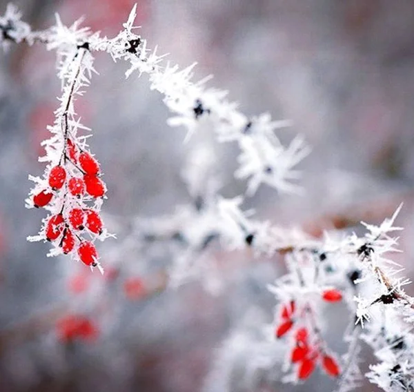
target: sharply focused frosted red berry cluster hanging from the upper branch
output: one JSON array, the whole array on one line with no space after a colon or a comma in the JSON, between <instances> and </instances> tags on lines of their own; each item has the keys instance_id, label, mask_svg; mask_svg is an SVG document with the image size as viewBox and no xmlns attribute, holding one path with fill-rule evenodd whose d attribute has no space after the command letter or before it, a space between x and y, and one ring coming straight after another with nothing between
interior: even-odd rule
<instances>
[{"instance_id":1,"label":"sharply focused frosted red berry cluster hanging from the upper branch","mask_svg":"<svg viewBox=\"0 0 414 392\"><path fill-rule=\"evenodd\" d=\"M54 198L60 203L63 196L61 206L57 206L59 213L46 220L44 238L55 242L64 254L76 249L81 262L88 266L97 266L98 253L92 241L81 237L81 232L86 229L93 239L103 231L99 211L85 204L106 193L99 174L97 159L67 139L61 161L48 173L48 187L32 198L34 206L39 208L50 205Z\"/></svg>"}]
</instances>

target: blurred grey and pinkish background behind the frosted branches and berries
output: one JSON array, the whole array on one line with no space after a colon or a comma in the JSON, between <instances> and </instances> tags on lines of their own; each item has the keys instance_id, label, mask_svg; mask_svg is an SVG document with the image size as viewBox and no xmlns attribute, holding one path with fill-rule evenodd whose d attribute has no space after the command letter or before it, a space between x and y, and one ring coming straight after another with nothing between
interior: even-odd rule
<instances>
[{"instance_id":1,"label":"blurred grey and pinkish background behind the frosted branches and berries","mask_svg":"<svg viewBox=\"0 0 414 392\"><path fill-rule=\"evenodd\" d=\"M0 14L7 2L0 0ZM135 1L14 3L34 29L50 26L59 12L66 24L85 15L85 26L111 37ZM312 146L300 165L304 195L262 187L246 208L320 235L359 220L379 222L404 202L398 260L412 277L413 17L414 3L404 0L140 0L137 24L150 48L158 45L181 68L197 61L196 79L213 74L210 85L229 90L246 115L292 119L291 128L279 130L283 141L301 133ZM168 128L168 112L145 76L126 81L126 64L95 57L100 75L77 111L93 130L91 150L108 185L103 211L118 237L102 246L102 264L108 259L110 266L113 255L114 265L124 266L104 278L70 259L46 258L48 244L26 242L44 217L26 210L24 199L28 173L43 173L37 157L59 81L55 53L43 46L21 44L0 54L0 391L333 389L317 372L293 388L274 382L280 369L252 365L280 350L261 346L259 328L273 319L266 284L284 272L282 263L221 253L224 288L214 295L197 281L164 290L164 275L147 265L164 253L124 252L132 217L192 202L181 171L197 146L215 151L222 195L239 195L246 184L233 177L235 146L215 144L208 129L184 144L184 130ZM88 315L92 325L72 342L59 320L74 313ZM219 351L226 339L237 349ZM344 349L335 336L328 339Z\"/></svg>"}]
</instances>

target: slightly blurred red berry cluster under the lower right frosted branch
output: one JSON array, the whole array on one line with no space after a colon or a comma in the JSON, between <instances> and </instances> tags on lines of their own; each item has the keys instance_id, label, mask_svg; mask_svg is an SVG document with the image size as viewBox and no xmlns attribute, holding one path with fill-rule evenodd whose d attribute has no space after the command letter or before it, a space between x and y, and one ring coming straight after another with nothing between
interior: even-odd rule
<instances>
[{"instance_id":1,"label":"slightly blurred red berry cluster under the lower right frosted branch","mask_svg":"<svg viewBox=\"0 0 414 392\"><path fill-rule=\"evenodd\" d=\"M336 289L327 290L322 293L322 298L327 302L337 302L342 299L342 294ZM275 329L275 337L278 339L293 331L295 320L297 320L296 303L290 301L284 304L280 311L281 322ZM304 326L298 326L292 334L295 344L290 351L290 362L296 366L296 374L299 380L309 378L317 364L322 370L332 377L340 375L339 365L333 355L326 353L319 338L311 343L309 331Z\"/></svg>"}]
</instances>

